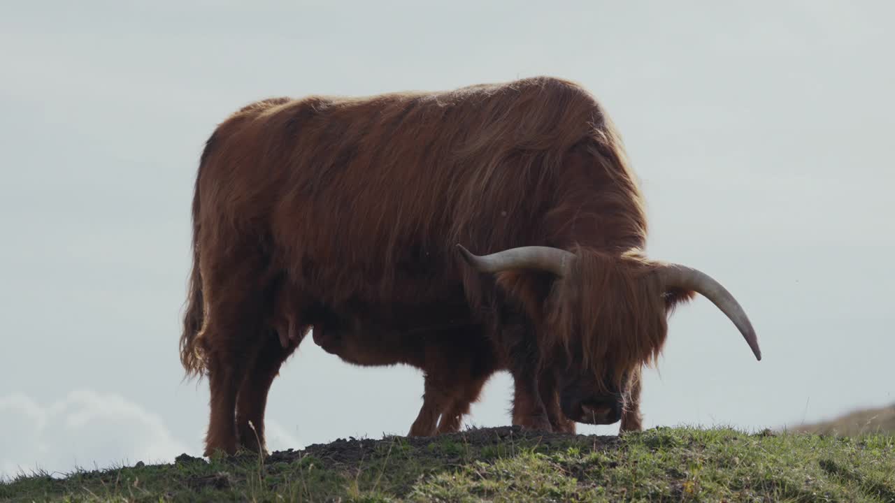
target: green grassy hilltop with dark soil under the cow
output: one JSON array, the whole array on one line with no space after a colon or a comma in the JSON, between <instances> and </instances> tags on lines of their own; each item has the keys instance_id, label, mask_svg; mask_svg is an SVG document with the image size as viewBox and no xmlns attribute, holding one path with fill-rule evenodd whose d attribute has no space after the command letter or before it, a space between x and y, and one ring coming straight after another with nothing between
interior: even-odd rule
<instances>
[{"instance_id":1,"label":"green grassy hilltop with dark soil under the cow","mask_svg":"<svg viewBox=\"0 0 895 503\"><path fill-rule=\"evenodd\" d=\"M660 428L618 437L476 429L340 439L266 459L46 474L3 501L886 501L895 437Z\"/></svg>"}]
</instances>

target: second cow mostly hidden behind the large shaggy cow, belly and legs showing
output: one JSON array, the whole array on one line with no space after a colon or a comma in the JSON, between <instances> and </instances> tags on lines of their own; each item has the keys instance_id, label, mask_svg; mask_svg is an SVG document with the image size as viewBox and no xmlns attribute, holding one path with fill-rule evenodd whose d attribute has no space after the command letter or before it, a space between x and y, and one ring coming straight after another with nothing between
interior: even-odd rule
<instances>
[{"instance_id":1,"label":"second cow mostly hidden behind the large shaggy cow, belly and legs showing","mask_svg":"<svg viewBox=\"0 0 895 503\"><path fill-rule=\"evenodd\" d=\"M272 326L280 343L288 347L290 340L303 337L294 301L289 289L275 295ZM315 325L313 339L328 354L358 366L411 365L423 371L422 407L410 428L409 436L430 437L459 431L470 405L482 393L485 382L505 365L481 326L445 326L416 328L398 332L385 327L362 326L350 315L330 316ZM575 433L575 422L559 410L555 390L546 402L550 427L554 431ZM439 419L440 418L440 419Z\"/></svg>"}]
</instances>

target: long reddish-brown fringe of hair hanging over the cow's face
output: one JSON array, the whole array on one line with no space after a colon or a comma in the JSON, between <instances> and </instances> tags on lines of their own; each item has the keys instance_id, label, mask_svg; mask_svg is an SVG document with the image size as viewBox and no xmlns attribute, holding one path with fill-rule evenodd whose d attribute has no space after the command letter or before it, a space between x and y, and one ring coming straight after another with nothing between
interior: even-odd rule
<instances>
[{"instance_id":1,"label":"long reddish-brown fringe of hair hanging over the cow's face","mask_svg":"<svg viewBox=\"0 0 895 503\"><path fill-rule=\"evenodd\" d=\"M544 355L560 351L568 364L590 371L602 390L618 387L626 372L656 362L668 333L667 313L693 293L669 301L655 274L660 264L640 250L620 257L588 248L575 254L575 266L551 293Z\"/></svg>"}]
</instances>

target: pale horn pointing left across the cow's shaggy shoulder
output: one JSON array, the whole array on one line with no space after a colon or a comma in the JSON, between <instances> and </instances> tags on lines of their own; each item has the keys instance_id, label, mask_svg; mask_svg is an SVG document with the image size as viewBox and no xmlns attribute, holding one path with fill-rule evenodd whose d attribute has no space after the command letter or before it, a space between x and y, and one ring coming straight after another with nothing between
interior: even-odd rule
<instances>
[{"instance_id":1,"label":"pale horn pointing left across the cow's shaggy shoulder","mask_svg":"<svg viewBox=\"0 0 895 503\"><path fill-rule=\"evenodd\" d=\"M482 272L500 272L511 269L539 269L559 277L566 275L575 253L550 246L520 246L490 255L473 255L462 244L457 244L464 260Z\"/></svg>"}]
</instances>

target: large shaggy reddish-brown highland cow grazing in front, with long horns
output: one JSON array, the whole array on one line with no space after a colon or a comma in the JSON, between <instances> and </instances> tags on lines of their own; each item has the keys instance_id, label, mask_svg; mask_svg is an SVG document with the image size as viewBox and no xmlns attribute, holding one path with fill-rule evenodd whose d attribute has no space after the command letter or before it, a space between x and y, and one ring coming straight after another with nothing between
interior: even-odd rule
<instances>
[{"instance_id":1,"label":"large shaggy reddish-brown highland cow grazing in front, with long horns","mask_svg":"<svg viewBox=\"0 0 895 503\"><path fill-rule=\"evenodd\" d=\"M640 372L696 293L761 359L723 286L645 257L618 133L569 81L253 103L207 141L192 223L180 348L209 377L206 455L263 451L272 380L333 318L358 334L481 326L515 381L514 422L544 431L544 389L570 420L639 430ZM284 279L286 348L267 329Z\"/></svg>"}]
</instances>

